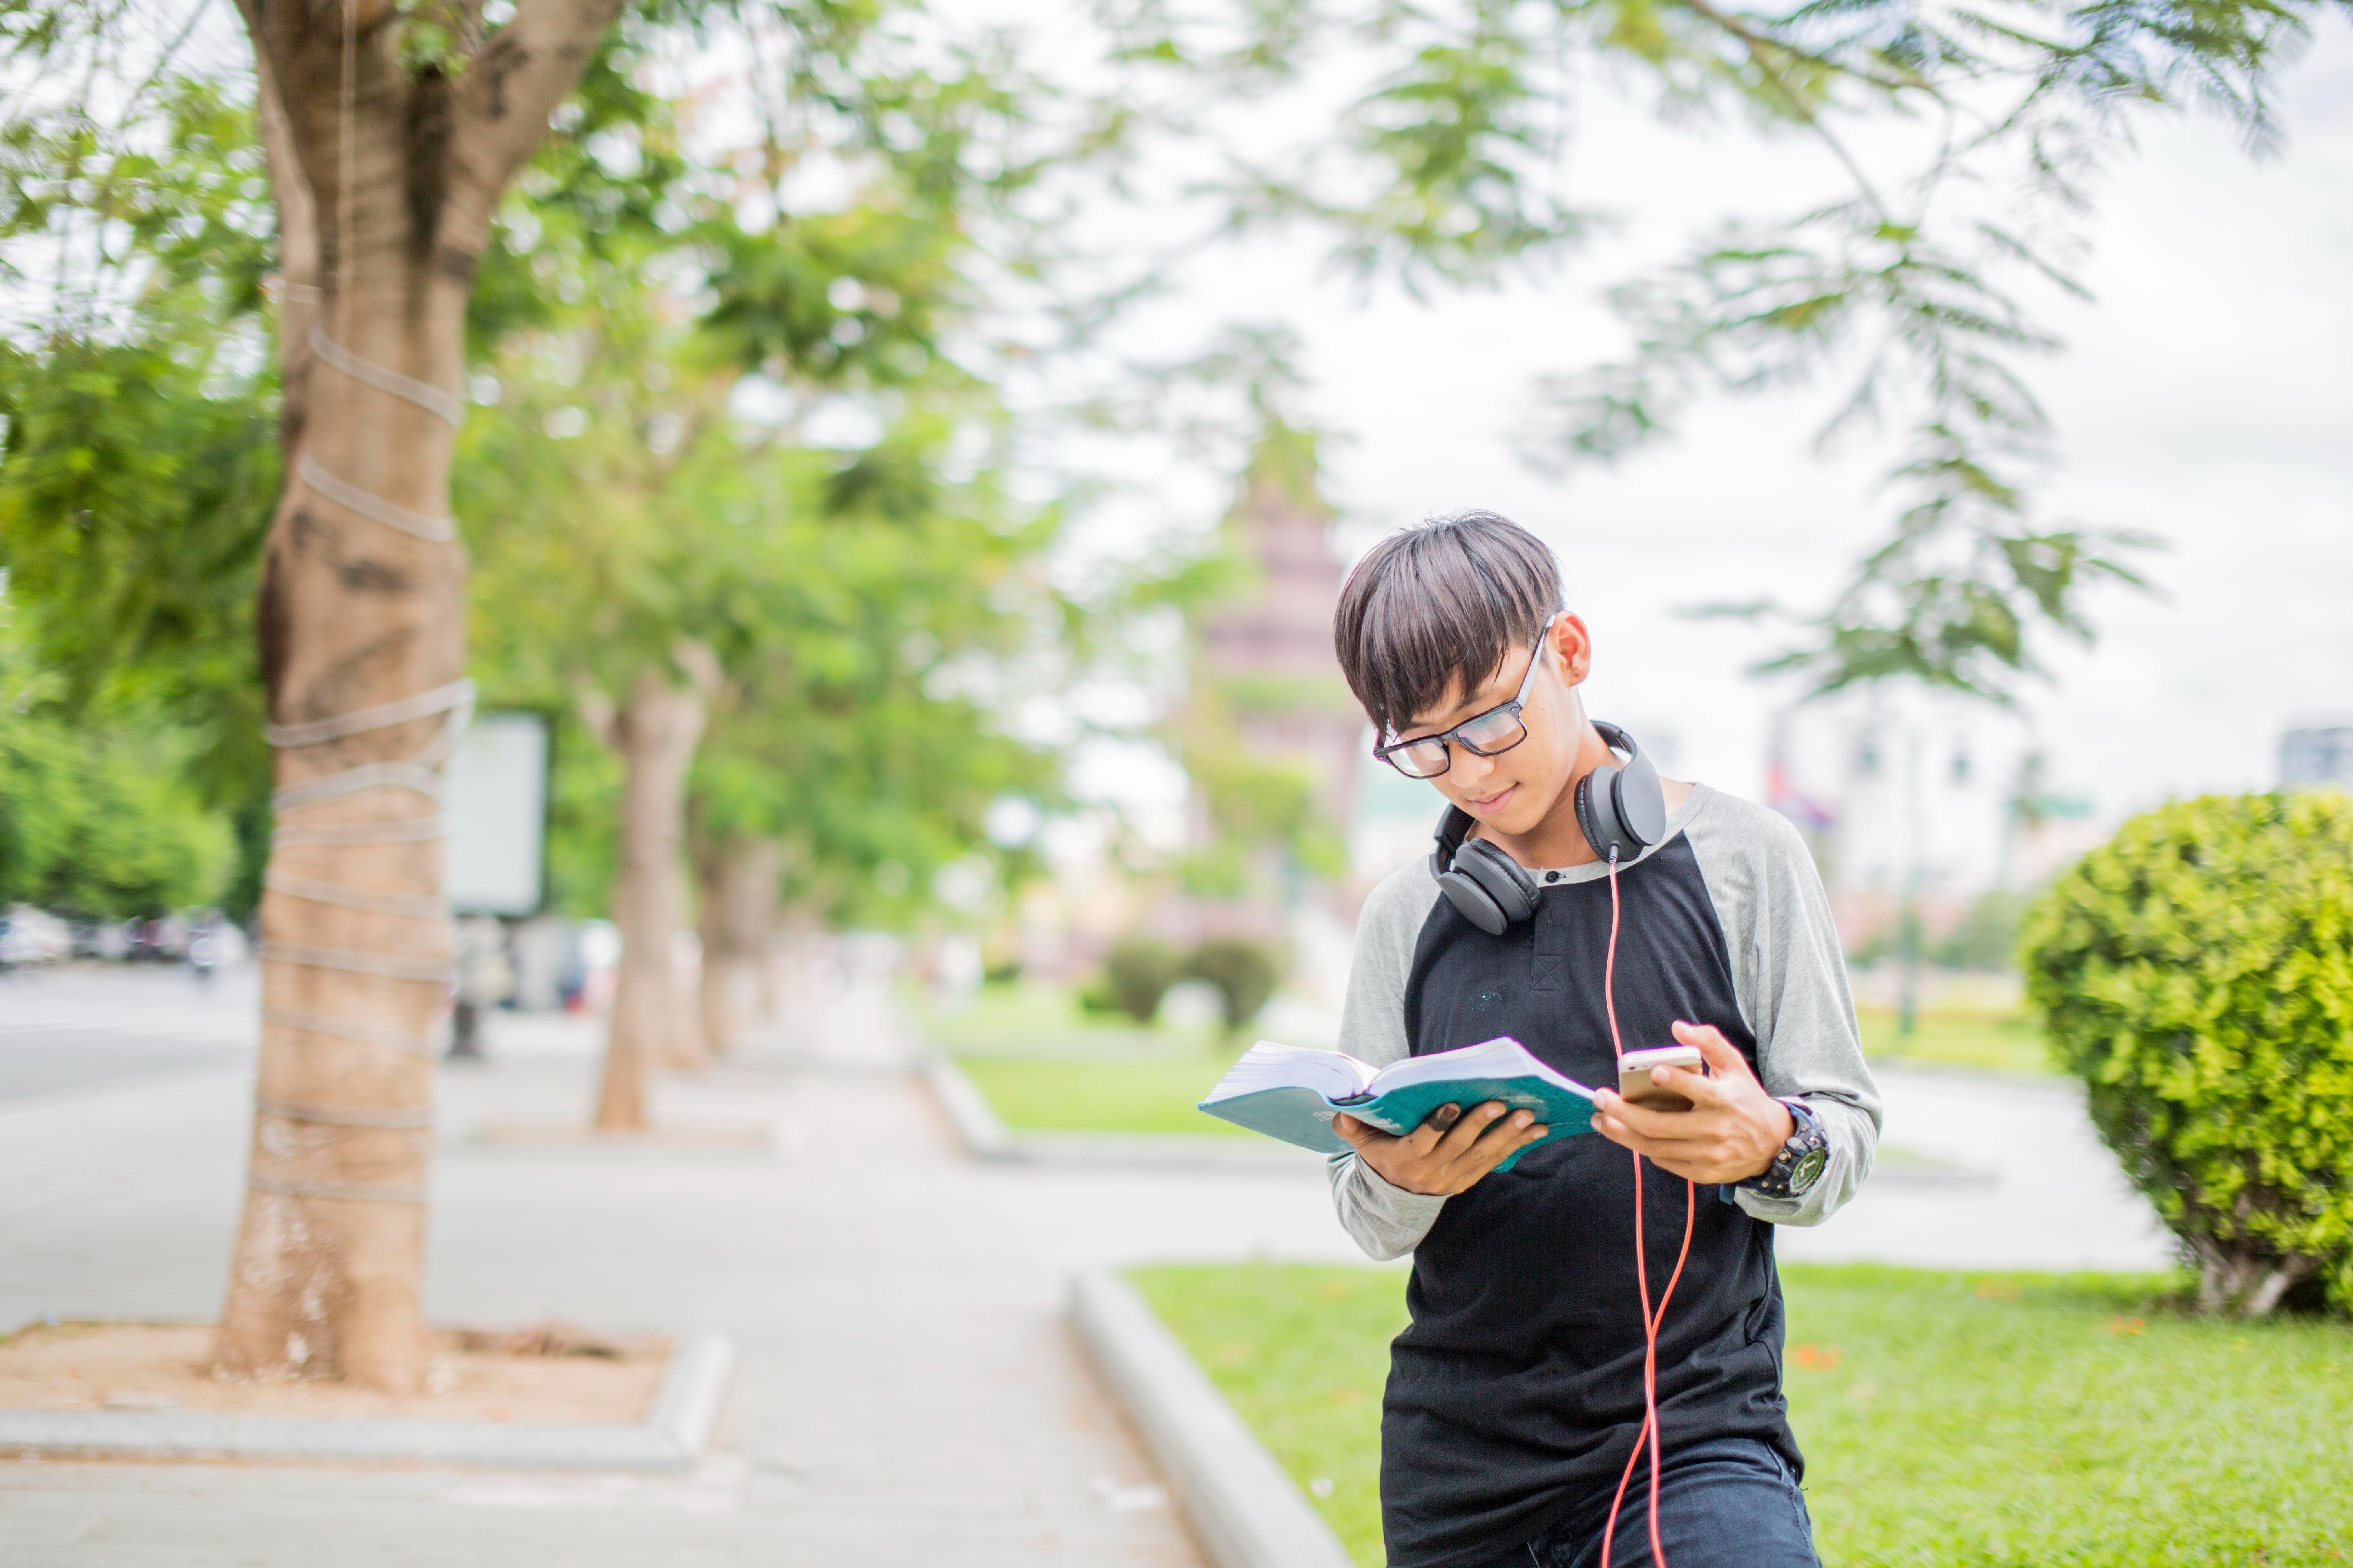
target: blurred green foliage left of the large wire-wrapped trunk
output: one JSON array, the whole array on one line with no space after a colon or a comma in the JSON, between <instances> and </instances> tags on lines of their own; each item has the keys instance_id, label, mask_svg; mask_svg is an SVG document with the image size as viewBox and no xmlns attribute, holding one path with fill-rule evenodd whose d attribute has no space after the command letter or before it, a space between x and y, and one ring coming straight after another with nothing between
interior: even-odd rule
<instances>
[{"instance_id":1,"label":"blurred green foliage left of the large wire-wrapped trunk","mask_svg":"<svg viewBox=\"0 0 2353 1568\"><path fill-rule=\"evenodd\" d=\"M219 85L158 78L122 122L42 94L0 120L14 306L0 324L0 571L14 656L45 672L19 693L12 790L85 778L71 811L104 802L120 832L75 816L75 853L125 856L38 877L59 907L221 891L209 856L224 825L148 778L155 766L240 820L268 790L252 599L278 489L271 247L252 106ZM59 750L40 741L52 731L75 738ZM228 889L242 912L261 846L238 842L252 860Z\"/></svg>"}]
</instances>

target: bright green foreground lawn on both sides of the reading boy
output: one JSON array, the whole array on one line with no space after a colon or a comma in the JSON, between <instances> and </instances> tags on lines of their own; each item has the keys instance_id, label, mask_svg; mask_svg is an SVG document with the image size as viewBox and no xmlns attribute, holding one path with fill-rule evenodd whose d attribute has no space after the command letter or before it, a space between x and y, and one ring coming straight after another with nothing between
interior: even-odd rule
<instances>
[{"instance_id":1,"label":"bright green foreground lawn on both sides of the reading boy","mask_svg":"<svg viewBox=\"0 0 2353 1568\"><path fill-rule=\"evenodd\" d=\"M1136 1269L1367 1568L1395 1269ZM2353 1561L2353 1326L2184 1316L2177 1281L1784 1267L1826 1568Z\"/></svg>"}]
</instances>

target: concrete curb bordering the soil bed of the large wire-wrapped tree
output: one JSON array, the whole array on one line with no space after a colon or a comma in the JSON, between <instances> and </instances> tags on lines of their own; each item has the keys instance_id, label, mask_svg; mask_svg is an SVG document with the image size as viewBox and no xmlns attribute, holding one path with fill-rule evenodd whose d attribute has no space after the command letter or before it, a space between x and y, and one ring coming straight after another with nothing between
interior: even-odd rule
<instances>
[{"instance_id":1,"label":"concrete curb bordering the soil bed of the large wire-wrapped tree","mask_svg":"<svg viewBox=\"0 0 2353 1568\"><path fill-rule=\"evenodd\" d=\"M311 1420L169 1410L0 1410L0 1453L56 1460L393 1460L489 1469L692 1469L734 1347L689 1338L642 1422Z\"/></svg>"}]
</instances>

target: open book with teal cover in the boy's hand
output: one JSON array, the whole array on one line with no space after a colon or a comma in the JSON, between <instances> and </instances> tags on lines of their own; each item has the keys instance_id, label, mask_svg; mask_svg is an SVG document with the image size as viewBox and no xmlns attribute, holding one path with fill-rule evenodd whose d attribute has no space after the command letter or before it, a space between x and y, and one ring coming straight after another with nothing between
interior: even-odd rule
<instances>
[{"instance_id":1,"label":"open book with teal cover in the boy's hand","mask_svg":"<svg viewBox=\"0 0 2353 1568\"><path fill-rule=\"evenodd\" d=\"M1217 1081L1200 1107L1304 1150L1346 1154L1348 1140L1332 1131L1334 1112L1344 1110L1367 1126L1402 1138L1440 1105L1471 1110L1487 1100L1537 1112L1537 1121L1551 1128L1539 1143L1572 1138L1593 1126L1593 1091L1553 1072L1508 1037L1409 1056L1379 1070L1339 1051L1301 1051L1261 1039ZM1497 1171L1511 1171L1520 1154Z\"/></svg>"}]
</instances>

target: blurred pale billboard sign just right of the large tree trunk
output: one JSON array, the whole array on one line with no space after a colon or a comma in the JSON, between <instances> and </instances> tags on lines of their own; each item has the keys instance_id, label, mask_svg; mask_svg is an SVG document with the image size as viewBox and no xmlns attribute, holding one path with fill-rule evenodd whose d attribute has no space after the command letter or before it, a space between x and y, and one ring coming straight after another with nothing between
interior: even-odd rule
<instances>
[{"instance_id":1,"label":"blurred pale billboard sign just right of the large tree trunk","mask_svg":"<svg viewBox=\"0 0 2353 1568\"><path fill-rule=\"evenodd\" d=\"M548 717L478 715L449 755L449 910L539 914L548 865Z\"/></svg>"}]
</instances>

